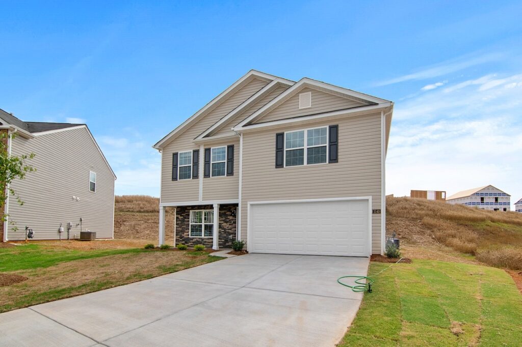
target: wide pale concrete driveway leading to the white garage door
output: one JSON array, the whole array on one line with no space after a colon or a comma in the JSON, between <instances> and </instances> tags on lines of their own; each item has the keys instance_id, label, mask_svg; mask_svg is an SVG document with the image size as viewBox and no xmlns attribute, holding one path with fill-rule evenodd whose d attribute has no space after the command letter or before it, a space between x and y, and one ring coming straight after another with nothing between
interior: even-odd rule
<instances>
[{"instance_id":1,"label":"wide pale concrete driveway leading to the white garage door","mask_svg":"<svg viewBox=\"0 0 522 347\"><path fill-rule=\"evenodd\" d=\"M0 314L2 346L332 346L368 258L248 254Z\"/></svg>"}]
</instances>

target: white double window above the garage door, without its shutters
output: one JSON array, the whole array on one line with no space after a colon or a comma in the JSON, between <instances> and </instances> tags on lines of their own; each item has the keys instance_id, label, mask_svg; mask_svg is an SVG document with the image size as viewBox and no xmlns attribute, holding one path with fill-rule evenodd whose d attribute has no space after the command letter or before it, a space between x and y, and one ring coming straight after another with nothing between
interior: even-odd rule
<instances>
[{"instance_id":1,"label":"white double window above the garage door, without its shutters","mask_svg":"<svg viewBox=\"0 0 522 347\"><path fill-rule=\"evenodd\" d=\"M284 133L284 166L326 163L328 128Z\"/></svg>"}]
</instances>

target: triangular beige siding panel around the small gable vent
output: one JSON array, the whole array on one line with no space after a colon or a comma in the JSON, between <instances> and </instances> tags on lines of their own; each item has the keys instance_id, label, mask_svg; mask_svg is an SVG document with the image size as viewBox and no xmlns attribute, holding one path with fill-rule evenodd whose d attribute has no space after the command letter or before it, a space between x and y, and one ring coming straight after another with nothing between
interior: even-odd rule
<instances>
[{"instance_id":1,"label":"triangular beige siding panel around the small gable vent","mask_svg":"<svg viewBox=\"0 0 522 347\"><path fill-rule=\"evenodd\" d=\"M312 92L312 107L299 109L299 94ZM291 96L287 101L271 110L267 115L256 120L259 122L268 122L271 120L287 119L298 116L313 115L338 109L345 109L357 106L363 106L357 101L350 100L346 97L325 93L311 88L303 88L295 95Z\"/></svg>"}]
</instances>

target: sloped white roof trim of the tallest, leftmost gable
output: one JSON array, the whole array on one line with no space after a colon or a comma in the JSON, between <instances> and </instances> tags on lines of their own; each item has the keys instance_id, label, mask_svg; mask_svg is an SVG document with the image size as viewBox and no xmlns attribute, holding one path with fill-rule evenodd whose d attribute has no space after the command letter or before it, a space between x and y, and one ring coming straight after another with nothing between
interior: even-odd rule
<instances>
[{"instance_id":1,"label":"sloped white roof trim of the tallest, leftmost gable","mask_svg":"<svg viewBox=\"0 0 522 347\"><path fill-rule=\"evenodd\" d=\"M232 95L234 92L241 89L241 87L252 80L253 78L259 78L262 80L265 80L267 82L272 82L277 76L269 75L268 73L257 71L257 70L250 70L248 71L243 77L241 77L239 80L235 81L232 85L229 86L226 90L221 92L218 96L213 98L208 104L203 106L199 111L197 111L194 115L192 115L190 118L185 120L181 125L176 127L174 130L172 130L170 133L168 133L163 139L158 141L155 145L153 145L153 148L156 148L157 150L161 150L161 148L168 142L171 141L176 137L176 135L180 134L183 129L185 129L187 126L192 125L197 119L200 117L206 115L209 113L214 107L217 107L222 102L226 101L227 98Z\"/></svg>"}]
</instances>

